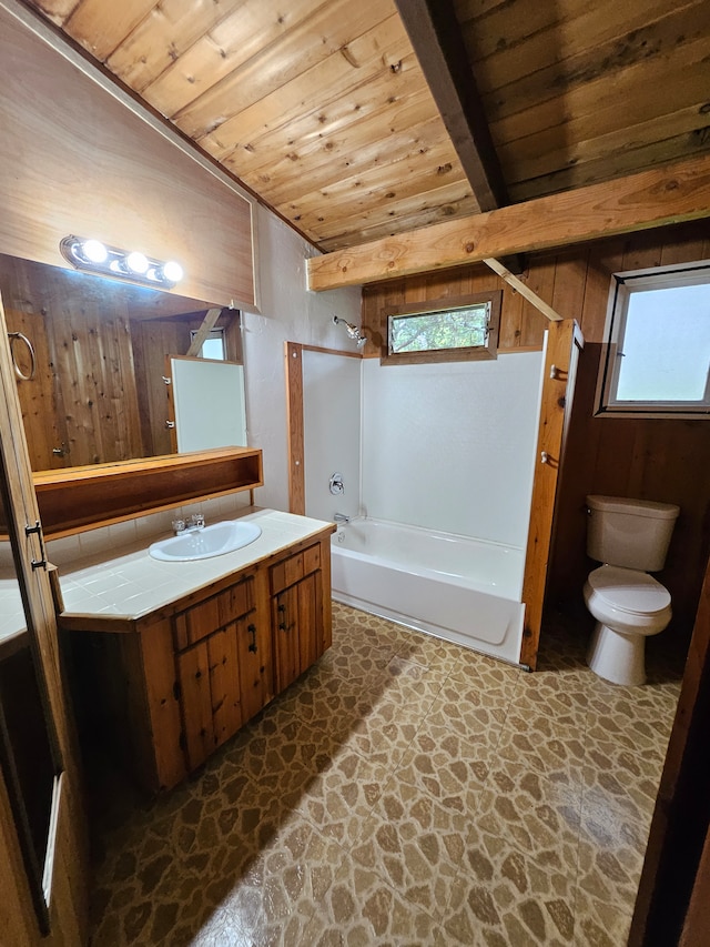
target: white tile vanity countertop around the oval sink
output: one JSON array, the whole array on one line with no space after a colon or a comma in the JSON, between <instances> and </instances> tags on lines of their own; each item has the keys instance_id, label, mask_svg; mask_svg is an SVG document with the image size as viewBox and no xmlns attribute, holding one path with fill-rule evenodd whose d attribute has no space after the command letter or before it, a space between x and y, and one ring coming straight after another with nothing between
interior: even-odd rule
<instances>
[{"instance_id":1,"label":"white tile vanity countertop around the oval sink","mask_svg":"<svg viewBox=\"0 0 710 947\"><path fill-rule=\"evenodd\" d=\"M262 534L233 553L193 562L160 562L149 555L148 547L171 535L162 533L124 550L98 553L72 566L62 566L62 614L141 618L333 525L276 510L246 510L239 518L256 523Z\"/></svg>"}]
</instances>

